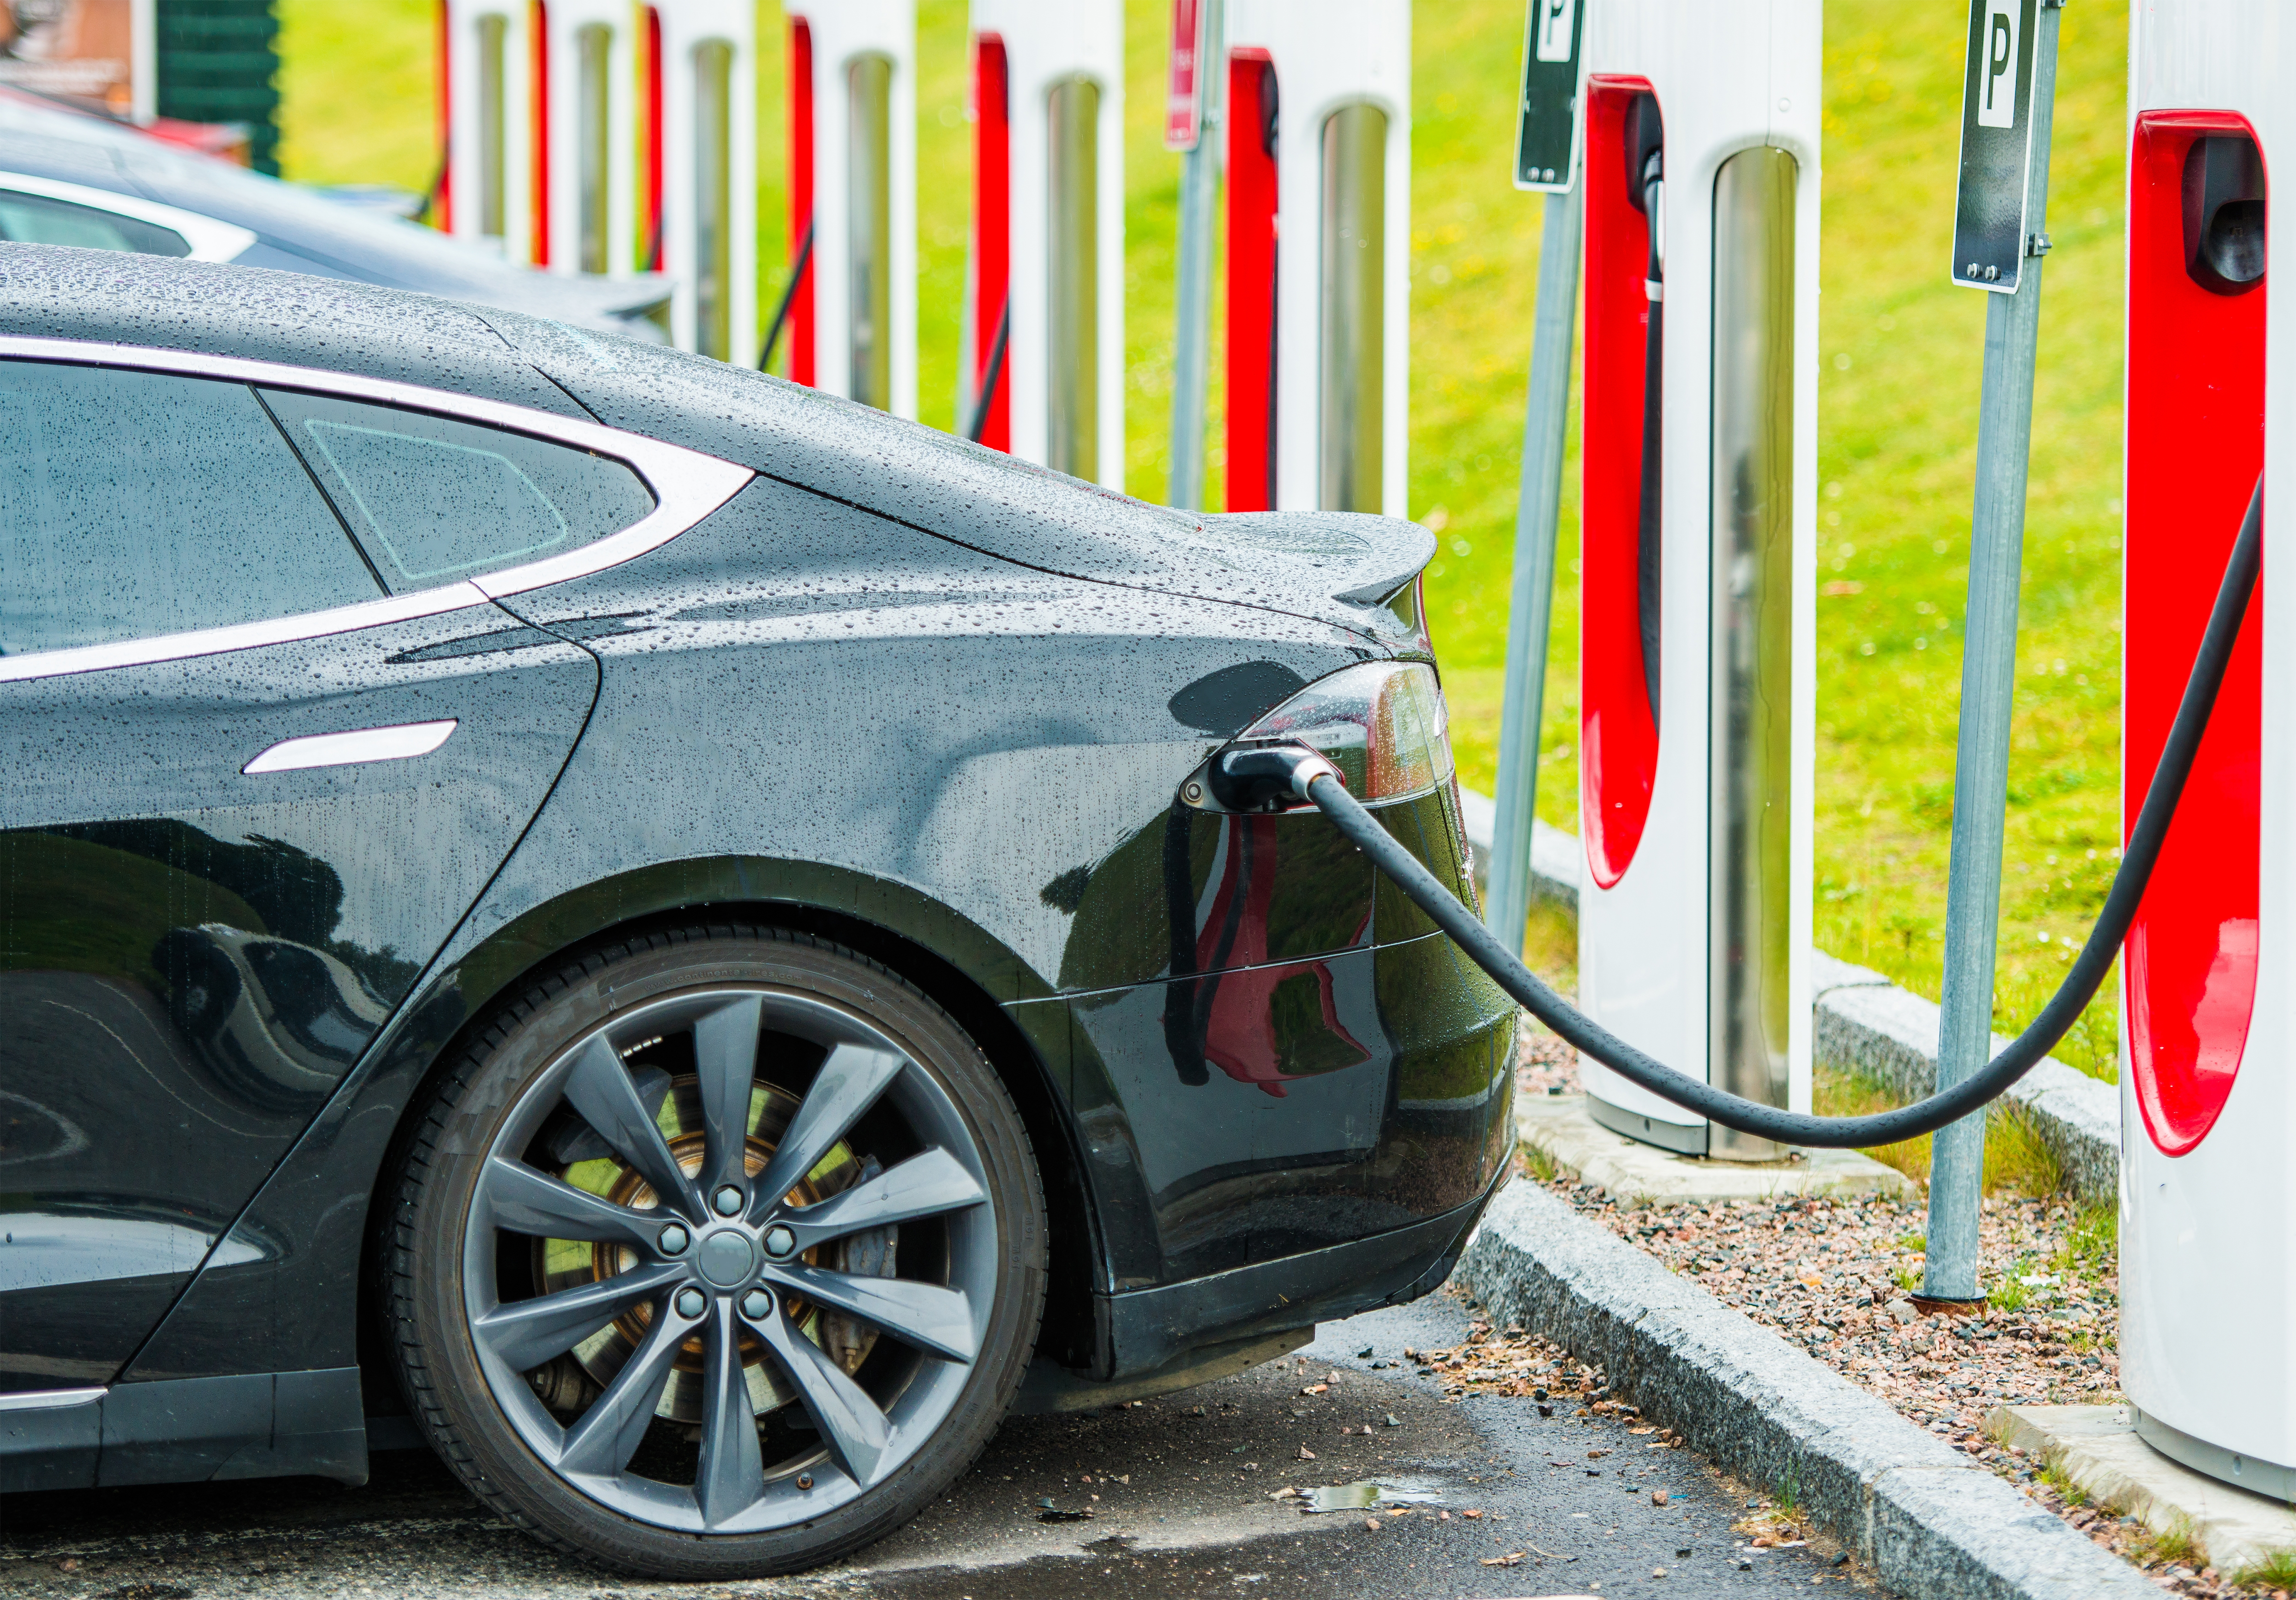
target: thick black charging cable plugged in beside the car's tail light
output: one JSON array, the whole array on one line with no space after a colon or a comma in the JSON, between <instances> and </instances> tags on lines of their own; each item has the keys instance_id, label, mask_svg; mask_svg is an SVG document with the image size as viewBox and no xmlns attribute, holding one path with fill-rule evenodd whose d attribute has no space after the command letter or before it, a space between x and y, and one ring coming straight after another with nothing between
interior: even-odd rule
<instances>
[{"instance_id":1,"label":"thick black charging cable plugged in beside the car's tail light","mask_svg":"<svg viewBox=\"0 0 2296 1600\"><path fill-rule=\"evenodd\" d=\"M2112 971L2122 939L2128 937L2128 925L2135 921L2138 902L2144 900L2144 884L2161 859L2161 842L2167 838L2167 824L2177 815L2177 801L2183 797L2183 783L2193 774L2193 760L2200 755L2200 737L2209 730L2216 693L2225 686L2225 668L2241 636L2241 620L2248 615L2248 599L2257 588L2262 560L2264 477L2259 475L2257 491L2248 500L2248 516L2241 519L2241 537L2234 539L2232 560L2225 562L2216 606L2209 611L2209 631L2202 634L2193 673L2183 682L2177 721L2170 725L2161 762L2144 787L2144 806L2138 810L2138 824L2128 833L2128 849L2122 854L2122 865L2112 875L2112 888L2105 893L2103 916L2096 918L2096 927L2089 930L2089 939L2080 946L2080 955L2073 957L2064 982L2057 985L2057 992L2041 1008L2041 1015L2032 1019L2032 1026L2018 1033L1981 1072L1945 1093L1899 1106L1896 1111L1878 1111L1874 1116L1802 1116L1798 1111L1779 1111L1777 1106L1727 1095L1701 1079L1676 1072L1653 1056L1644 1056L1616 1033L1587 1019L1541 982L1538 973L1515 960L1483 927L1483 921L1474 911L1435 881L1435 875L1419 865L1419 859L1396 842L1380 826L1380 820L1364 810L1362 801L1348 794L1339 769L1309 748L1293 744L1228 751L1217 762L1219 790L1224 790L1219 799L1221 803L1233 803L1231 797L1247 803L1254 799L1261 803L1281 803L1281 797L1290 794L1311 801L1352 845L1371 856L1380 872L1396 881L1412 904L1435 918L1474 957L1476 966L1513 994L1525 1010L1554 1028L1566 1042L1653 1095L1697 1111L1708 1123L1736 1127L1740 1134L1754 1134L1756 1139L1775 1139L1777 1143L1832 1150L1887 1145L1899 1139L1933 1134L2002 1095L2048 1056L2096 994L2105 973Z\"/></svg>"}]
</instances>

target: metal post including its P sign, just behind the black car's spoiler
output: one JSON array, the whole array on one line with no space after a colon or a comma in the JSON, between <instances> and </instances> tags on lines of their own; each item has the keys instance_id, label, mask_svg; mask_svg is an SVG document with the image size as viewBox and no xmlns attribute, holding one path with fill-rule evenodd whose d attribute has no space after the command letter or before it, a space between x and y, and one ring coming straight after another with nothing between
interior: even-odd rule
<instances>
[{"instance_id":1,"label":"metal post including its P sign, just behind the black car's spoiler","mask_svg":"<svg viewBox=\"0 0 2296 1600\"><path fill-rule=\"evenodd\" d=\"M1538 723L1548 700L1548 624L1554 606L1554 523L1564 491L1564 422L1570 413L1570 335L1577 317L1580 37L1577 0L1531 0L1522 30L1522 101L1515 106L1515 188L1545 195L1538 227L1538 312L1522 413L1522 482L1515 489L1515 583L1506 615L1506 689L1499 709L1497 820L1490 840L1488 927L1522 955L1531 914L1531 822L1538 815Z\"/></svg>"}]
</instances>

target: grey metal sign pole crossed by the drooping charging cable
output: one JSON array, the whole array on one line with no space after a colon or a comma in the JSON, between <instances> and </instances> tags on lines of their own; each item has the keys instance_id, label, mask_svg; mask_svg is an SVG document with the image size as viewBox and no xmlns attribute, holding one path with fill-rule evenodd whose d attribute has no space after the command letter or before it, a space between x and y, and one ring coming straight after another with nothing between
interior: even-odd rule
<instances>
[{"instance_id":1,"label":"grey metal sign pole crossed by the drooping charging cable","mask_svg":"<svg viewBox=\"0 0 2296 1600\"><path fill-rule=\"evenodd\" d=\"M2057 101L2057 7L2041 0L2032 51L2032 209L2016 294L1986 296L1986 381L1977 413L1977 500L1970 514L1970 606L1961 654L1961 746L1954 753L1954 854L1945 888L1945 1017L1938 1088L1993 1054L1993 941L2000 932L2002 824L2009 808L2009 700L2016 689L2016 604L2025 560L2025 466L2032 450L2032 367L2041 340L2041 255L2048 236L2048 138ZM1986 1118L1938 1129L1929 1148L1926 1299L1977 1299L1977 1210Z\"/></svg>"}]
</instances>

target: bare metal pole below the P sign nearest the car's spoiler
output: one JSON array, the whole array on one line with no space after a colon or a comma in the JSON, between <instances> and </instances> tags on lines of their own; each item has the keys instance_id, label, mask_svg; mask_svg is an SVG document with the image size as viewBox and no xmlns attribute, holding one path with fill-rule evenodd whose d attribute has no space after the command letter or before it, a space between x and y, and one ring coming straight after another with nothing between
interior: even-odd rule
<instances>
[{"instance_id":1,"label":"bare metal pole below the P sign nearest the car's spoiler","mask_svg":"<svg viewBox=\"0 0 2296 1600\"><path fill-rule=\"evenodd\" d=\"M1531 324L1531 393L1522 413L1522 482L1515 491L1515 588L1506 624L1506 698L1499 707L1499 815L1490 833L1490 904L1483 921L1522 955L1531 916L1531 801L1538 794L1538 719L1548 700L1548 618L1554 606L1554 523L1564 491L1564 418L1570 409L1570 340L1577 317L1580 191L1548 195L1538 227L1538 312Z\"/></svg>"}]
</instances>

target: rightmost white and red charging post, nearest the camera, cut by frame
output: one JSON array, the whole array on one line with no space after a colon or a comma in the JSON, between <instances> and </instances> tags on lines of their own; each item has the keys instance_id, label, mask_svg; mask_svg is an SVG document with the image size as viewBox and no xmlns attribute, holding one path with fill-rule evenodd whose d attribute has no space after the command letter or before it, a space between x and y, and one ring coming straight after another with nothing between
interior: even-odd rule
<instances>
[{"instance_id":1,"label":"rightmost white and red charging post, nearest the camera, cut by frame","mask_svg":"<svg viewBox=\"0 0 2296 1600\"><path fill-rule=\"evenodd\" d=\"M2273 0L2154 0L2128 53L2124 815L2163 746L2232 530L2291 441L2296 356L2266 335L2268 179L2296 39ZM2275 404L2278 402L2278 404ZM2275 443L2280 441L2280 443ZM2264 588L2122 960L2122 1389L2179 1462L2296 1501L2296 914L2289 677L2264 484ZM2280 565L2275 565L2275 560ZM2259 982L2280 971L2280 982Z\"/></svg>"}]
</instances>

